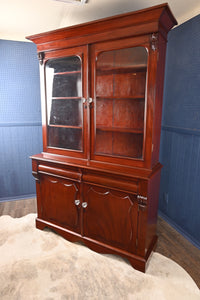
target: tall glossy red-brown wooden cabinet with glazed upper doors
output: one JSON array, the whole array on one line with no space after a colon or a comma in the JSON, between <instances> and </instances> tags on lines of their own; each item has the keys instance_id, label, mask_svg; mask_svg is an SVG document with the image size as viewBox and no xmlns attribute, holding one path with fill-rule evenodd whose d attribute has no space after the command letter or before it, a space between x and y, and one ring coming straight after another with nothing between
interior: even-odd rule
<instances>
[{"instance_id":1,"label":"tall glossy red-brown wooden cabinet with glazed upper doors","mask_svg":"<svg viewBox=\"0 0 200 300\"><path fill-rule=\"evenodd\" d=\"M28 37L40 61L36 225L145 271L155 248L166 4Z\"/></svg>"}]
</instances>

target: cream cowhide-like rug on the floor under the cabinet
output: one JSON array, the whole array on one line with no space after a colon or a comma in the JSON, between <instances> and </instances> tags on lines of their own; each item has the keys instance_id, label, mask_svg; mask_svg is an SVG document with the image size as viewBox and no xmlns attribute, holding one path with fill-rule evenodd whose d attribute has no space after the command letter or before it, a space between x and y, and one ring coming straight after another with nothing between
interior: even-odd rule
<instances>
[{"instance_id":1,"label":"cream cowhide-like rug on the floor under the cabinet","mask_svg":"<svg viewBox=\"0 0 200 300\"><path fill-rule=\"evenodd\" d=\"M121 258L37 230L35 217L0 217L1 300L200 299L191 277L158 253L143 274Z\"/></svg>"}]
</instances>

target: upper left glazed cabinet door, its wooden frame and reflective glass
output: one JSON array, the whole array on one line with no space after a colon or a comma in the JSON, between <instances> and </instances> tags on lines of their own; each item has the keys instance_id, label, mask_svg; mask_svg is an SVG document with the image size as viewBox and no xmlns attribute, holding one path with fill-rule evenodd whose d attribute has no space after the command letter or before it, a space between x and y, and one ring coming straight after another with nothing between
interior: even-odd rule
<instances>
[{"instance_id":1,"label":"upper left glazed cabinet door, its wooden frame and reflective glass","mask_svg":"<svg viewBox=\"0 0 200 300\"><path fill-rule=\"evenodd\" d=\"M42 73L45 151L86 157L86 47L46 53Z\"/></svg>"}]
</instances>

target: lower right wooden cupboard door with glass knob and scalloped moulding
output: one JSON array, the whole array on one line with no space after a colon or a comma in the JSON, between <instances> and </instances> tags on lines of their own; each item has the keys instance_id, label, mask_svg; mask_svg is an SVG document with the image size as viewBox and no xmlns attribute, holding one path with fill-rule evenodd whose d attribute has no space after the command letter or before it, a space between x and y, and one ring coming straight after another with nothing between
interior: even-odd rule
<instances>
[{"instance_id":1,"label":"lower right wooden cupboard door with glass knob and scalloped moulding","mask_svg":"<svg viewBox=\"0 0 200 300\"><path fill-rule=\"evenodd\" d=\"M84 236L129 252L136 250L135 195L85 185L84 201Z\"/></svg>"}]
</instances>

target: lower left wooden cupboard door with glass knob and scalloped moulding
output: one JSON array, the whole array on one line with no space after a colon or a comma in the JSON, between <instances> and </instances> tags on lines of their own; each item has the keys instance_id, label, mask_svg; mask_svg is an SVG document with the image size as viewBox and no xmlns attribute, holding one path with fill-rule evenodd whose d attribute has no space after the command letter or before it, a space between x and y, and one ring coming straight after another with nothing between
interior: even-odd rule
<instances>
[{"instance_id":1,"label":"lower left wooden cupboard door with glass knob and scalloped moulding","mask_svg":"<svg viewBox=\"0 0 200 300\"><path fill-rule=\"evenodd\" d=\"M80 231L79 184L53 176L41 175L41 216L43 220Z\"/></svg>"}]
</instances>

